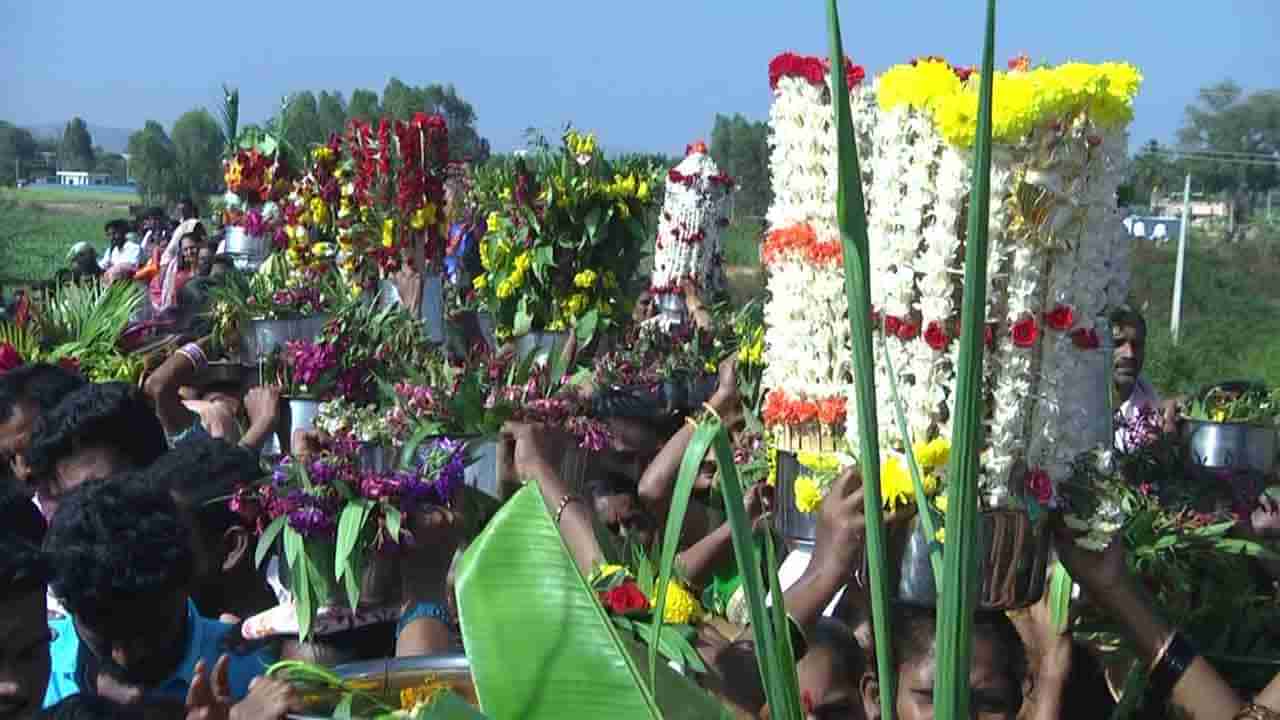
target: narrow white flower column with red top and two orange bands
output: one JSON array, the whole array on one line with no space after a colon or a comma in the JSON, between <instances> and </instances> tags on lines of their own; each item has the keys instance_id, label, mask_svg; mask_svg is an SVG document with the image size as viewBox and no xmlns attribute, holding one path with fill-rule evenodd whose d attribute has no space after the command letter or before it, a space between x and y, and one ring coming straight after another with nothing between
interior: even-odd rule
<instances>
[{"instance_id":1,"label":"narrow white flower column with red top and two orange bands","mask_svg":"<svg viewBox=\"0 0 1280 720\"><path fill-rule=\"evenodd\" d=\"M864 74L846 63L844 81L858 88ZM763 414L786 450L833 451L842 443L852 378L828 76L820 58L788 53L769 64L774 199L762 252L769 273ZM852 102L865 108L856 115L870 111L868 95L855 92Z\"/></svg>"}]
</instances>

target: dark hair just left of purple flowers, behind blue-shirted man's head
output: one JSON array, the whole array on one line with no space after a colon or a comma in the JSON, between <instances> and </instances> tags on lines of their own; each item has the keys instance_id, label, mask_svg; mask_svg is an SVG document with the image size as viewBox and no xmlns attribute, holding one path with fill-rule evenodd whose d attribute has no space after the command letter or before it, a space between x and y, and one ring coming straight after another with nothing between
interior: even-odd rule
<instances>
[{"instance_id":1,"label":"dark hair just left of purple flowers, behind blue-shirted man's head","mask_svg":"<svg viewBox=\"0 0 1280 720\"><path fill-rule=\"evenodd\" d=\"M189 509L197 529L207 537L220 537L243 524L228 509L227 500L265 474L257 455L250 450L209 437L183 442L146 471L154 487Z\"/></svg>"}]
</instances>

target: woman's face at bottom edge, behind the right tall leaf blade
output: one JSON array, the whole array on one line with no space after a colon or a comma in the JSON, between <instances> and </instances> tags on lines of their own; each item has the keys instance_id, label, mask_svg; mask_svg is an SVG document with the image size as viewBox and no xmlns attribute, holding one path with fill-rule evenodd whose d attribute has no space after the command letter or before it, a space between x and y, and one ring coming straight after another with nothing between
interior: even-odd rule
<instances>
[{"instance_id":1,"label":"woman's face at bottom edge, behind the right tall leaf blade","mask_svg":"<svg viewBox=\"0 0 1280 720\"><path fill-rule=\"evenodd\" d=\"M1019 688L1007 676L1001 648L989 638L974 635L969 665L969 716L974 720L1012 720L1021 702ZM933 720L934 656L929 652L897 670L897 716L901 720ZM879 717L879 693L863 685L868 717Z\"/></svg>"}]
</instances>

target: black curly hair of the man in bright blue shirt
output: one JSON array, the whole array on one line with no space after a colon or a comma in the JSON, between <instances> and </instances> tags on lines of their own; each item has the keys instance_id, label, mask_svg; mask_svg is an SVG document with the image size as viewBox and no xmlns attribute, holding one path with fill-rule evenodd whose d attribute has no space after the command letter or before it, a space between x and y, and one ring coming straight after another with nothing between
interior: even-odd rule
<instances>
[{"instance_id":1,"label":"black curly hair of the man in bright blue shirt","mask_svg":"<svg viewBox=\"0 0 1280 720\"><path fill-rule=\"evenodd\" d=\"M45 541L50 584L73 615L109 621L191 580L191 533L168 492L125 473L67 495Z\"/></svg>"}]
</instances>

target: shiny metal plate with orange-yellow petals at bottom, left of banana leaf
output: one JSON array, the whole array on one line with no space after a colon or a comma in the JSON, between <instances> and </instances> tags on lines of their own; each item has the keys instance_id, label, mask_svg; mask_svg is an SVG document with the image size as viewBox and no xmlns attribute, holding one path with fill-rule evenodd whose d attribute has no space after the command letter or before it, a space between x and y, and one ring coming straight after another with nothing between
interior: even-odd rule
<instances>
[{"instance_id":1,"label":"shiny metal plate with orange-yellow petals at bottom, left of banana leaf","mask_svg":"<svg viewBox=\"0 0 1280 720\"><path fill-rule=\"evenodd\" d=\"M470 705L479 707L471 662L465 655L433 655L417 657L390 657L338 665L334 673L349 685L372 693L392 706L399 705L403 689L422 685L426 680L443 682ZM303 712L291 715L296 720L328 720L334 717L337 693L308 693Z\"/></svg>"}]
</instances>

